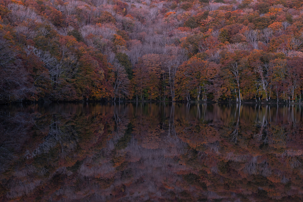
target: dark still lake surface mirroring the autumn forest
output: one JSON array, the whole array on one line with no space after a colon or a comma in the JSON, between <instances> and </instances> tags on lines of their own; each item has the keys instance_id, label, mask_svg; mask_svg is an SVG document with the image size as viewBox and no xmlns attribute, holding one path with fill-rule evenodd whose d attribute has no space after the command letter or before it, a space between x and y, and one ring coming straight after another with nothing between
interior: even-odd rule
<instances>
[{"instance_id":1,"label":"dark still lake surface mirroring the autumn forest","mask_svg":"<svg viewBox=\"0 0 303 202\"><path fill-rule=\"evenodd\" d=\"M300 106L0 109L0 200L301 201Z\"/></svg>"}]
</instances>

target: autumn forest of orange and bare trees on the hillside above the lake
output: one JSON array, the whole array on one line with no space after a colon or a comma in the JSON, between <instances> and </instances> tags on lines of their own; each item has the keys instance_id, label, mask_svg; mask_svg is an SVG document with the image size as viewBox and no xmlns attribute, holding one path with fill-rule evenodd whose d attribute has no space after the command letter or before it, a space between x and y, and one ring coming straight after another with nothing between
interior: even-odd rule
<instances>
[{"instance_id":1,"label":"autumn forest of orange and bare trees on the hillside above the lake","mask_svg":"<svg viewBox=\"0 0 303 202\"><path fill-rule=\"evenodd\" d=\"M0 103L301 103L301 0L0 0Z\"/></svg>"}]
</instances>

